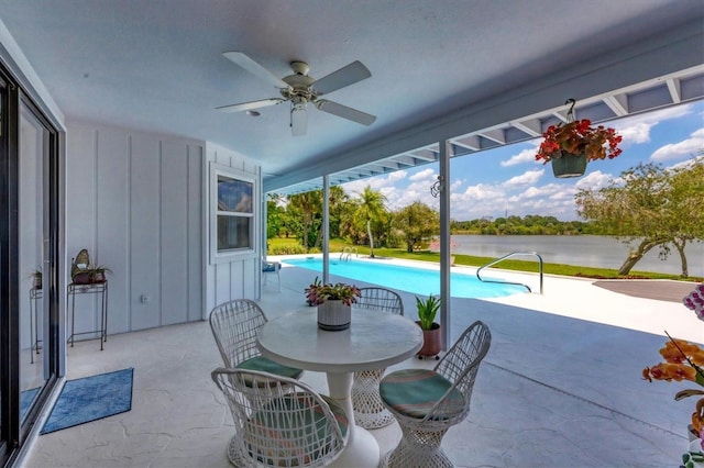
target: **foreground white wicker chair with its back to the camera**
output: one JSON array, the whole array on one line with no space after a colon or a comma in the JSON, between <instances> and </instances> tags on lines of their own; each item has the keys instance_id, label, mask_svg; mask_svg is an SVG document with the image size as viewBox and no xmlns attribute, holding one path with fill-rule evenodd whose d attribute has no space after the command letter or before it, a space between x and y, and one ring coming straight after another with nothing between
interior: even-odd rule
<instances>
[{"instance_id":1,"label":"foreground white wicker chair with its back to the camera","mask_svg":"<svg viewBox=\"0 0 704 468\"><path fill-rule=\"evenodd\" d=\"M306 383L244 369L218 368L211 377L230 406L238 434L230 450L240 459L275 467L323 466L344 448L344 410Z\"/></svg>"}]
</instances>

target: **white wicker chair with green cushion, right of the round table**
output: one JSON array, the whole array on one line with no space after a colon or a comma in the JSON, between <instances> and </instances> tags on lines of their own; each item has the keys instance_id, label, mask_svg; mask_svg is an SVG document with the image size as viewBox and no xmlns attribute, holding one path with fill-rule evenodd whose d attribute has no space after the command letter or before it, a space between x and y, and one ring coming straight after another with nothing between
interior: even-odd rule
<instances>
[{"instance_id":1,"label":"white wicker chair with green cushion, right of the round table","mask_svg":"<svg viewBox=\"0 0 704 468\"><path fill-rule=\"evenodd\" d=\"M472 390L492 334L474 322L433 370L403 369L384 377L380 393L402 428L402 439L381 467L452 467L441 448L444 433L470 412Z\"/></svg>"}]
</instances>

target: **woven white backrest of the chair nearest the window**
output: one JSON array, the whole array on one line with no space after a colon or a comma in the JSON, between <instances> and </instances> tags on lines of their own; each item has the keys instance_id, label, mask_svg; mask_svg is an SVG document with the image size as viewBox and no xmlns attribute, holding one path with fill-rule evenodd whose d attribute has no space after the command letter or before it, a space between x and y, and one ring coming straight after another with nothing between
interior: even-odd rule
<instances>
[{"instance_id":1,"label":"woven white backrest of the chair nearest the window","mask_svg":"<svg viewBox=\"0 0 704 468\"><path fill-rule=\"evenodd\" d=\"M256 334L266 323L258 304L249 299L224 302L210 312L210 328L226 367L260 356Z\"/></svg>"}]
</instances>

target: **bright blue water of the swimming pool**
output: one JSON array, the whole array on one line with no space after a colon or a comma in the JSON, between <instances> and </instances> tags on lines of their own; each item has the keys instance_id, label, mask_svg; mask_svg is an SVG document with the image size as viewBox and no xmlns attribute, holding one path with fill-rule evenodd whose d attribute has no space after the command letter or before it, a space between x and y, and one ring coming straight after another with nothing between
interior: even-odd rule
<instances>
[{"instance_id":1,"label":"bright blue water of the swimming pool","mask_svg":"<svg viewBox=\"0 0 704 468\"><path fill-rule=\"evenodd\" d=\"M292 258L283 260L283 263L314 271L322 271L321 258ZM350 261L338 261L331 258L330 275L356 279L416 294L428 296L440 293L440 271L438 269L392 265L381 259L374 261L354 259ZM451 272L450 281L450 293L453 298L499 298L517 292L526 292L526 288L520 286L482 282L472 275Z\"/></svg>"}]
</instances>

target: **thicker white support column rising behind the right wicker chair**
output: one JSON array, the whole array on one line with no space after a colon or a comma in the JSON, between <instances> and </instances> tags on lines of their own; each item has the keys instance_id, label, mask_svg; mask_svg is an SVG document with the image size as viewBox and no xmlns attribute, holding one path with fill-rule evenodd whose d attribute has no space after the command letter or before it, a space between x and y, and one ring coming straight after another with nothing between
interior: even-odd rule
<instances>
[{"instance_id":1,"label":"thicker white support column rising behind the right wicker chair","mask_svg":"<svg viewBox=\"0 0 704 468\"><path fill-rule=\"evenodd\" d=\"M450 347L450 143L440 142L440 324L442 349Z\"/></svg>"}]
</instances>

